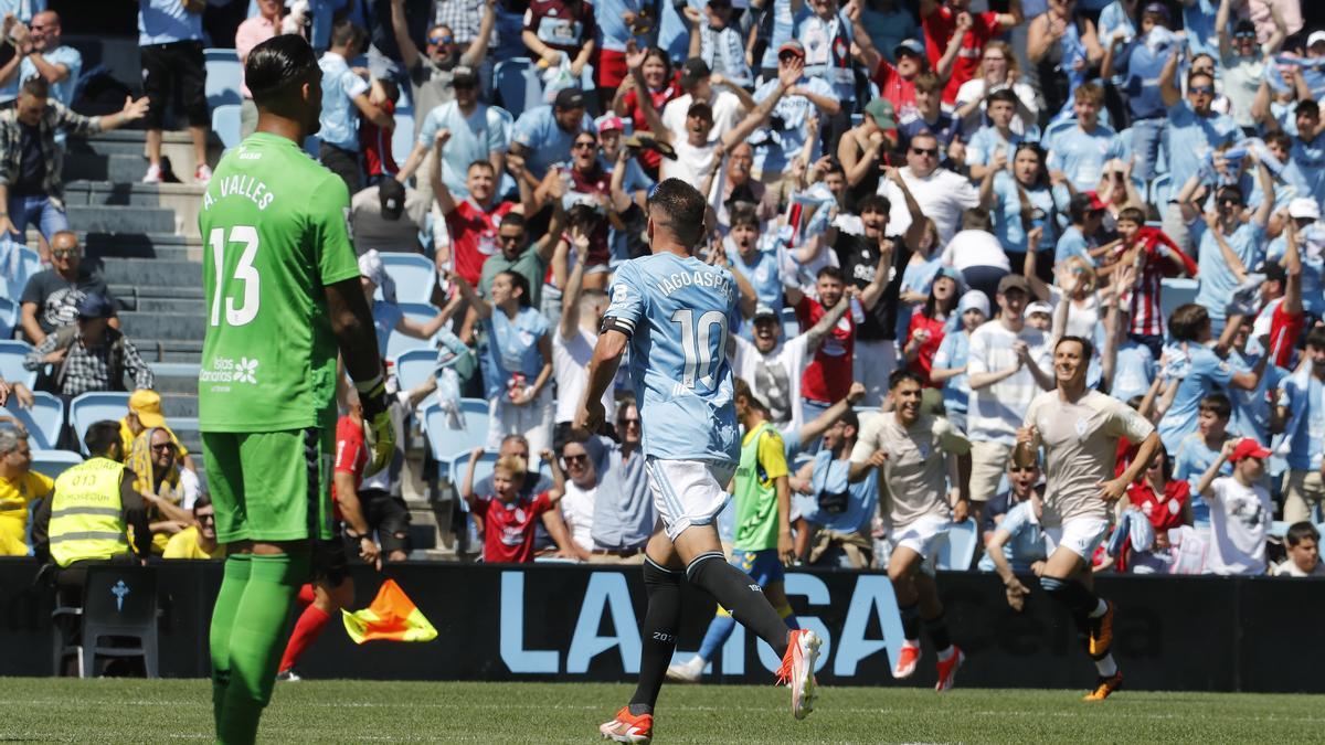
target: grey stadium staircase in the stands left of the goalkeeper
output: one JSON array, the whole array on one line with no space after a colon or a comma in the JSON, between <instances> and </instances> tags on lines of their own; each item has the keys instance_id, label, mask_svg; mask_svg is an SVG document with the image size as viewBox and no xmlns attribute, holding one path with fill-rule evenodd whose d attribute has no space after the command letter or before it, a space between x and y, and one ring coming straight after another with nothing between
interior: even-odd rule
<instances>
[{"instance_id":1,"label":"grey stadium staircase in the stands left of the goalkeeper","mask_svg":"<svg viewBox=\"0 0 1325 745\"><path fill-rule=\"evenodd\" d=\"M220 151L213 142L208 159L216 163ZM205 483L197 431L197 370L207 322L203 243L197 235L203 187L140 183L147 167L143 152L140 130L70 138L64 162L69 225L85 248L85 261L99 264L119 300L122 329L152 366L162 411L184 447L195 453ZM167 131L162 154L171 160L174 172L193 172L187 133ZM29 231L29 245L36 248L36 232ZM420 477L421 437L413 436L411 443L403 479L415 547L441 546L429 488ZM443 516L443 524L448 518ZM447 553L428 551L433 557Z\"/></svg>"}]
</instances>

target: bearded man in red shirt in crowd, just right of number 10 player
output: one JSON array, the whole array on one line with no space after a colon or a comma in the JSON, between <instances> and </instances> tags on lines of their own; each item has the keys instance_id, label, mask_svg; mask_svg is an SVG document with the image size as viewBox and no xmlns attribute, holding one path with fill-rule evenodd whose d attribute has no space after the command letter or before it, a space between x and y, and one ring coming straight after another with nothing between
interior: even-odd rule
<instances>
[{"instance_id":1,"label":"bearded man in red shirt in crowd, just right of number 10 player","mask_svg":"<svg viewBox=\"0 0 1325 745\"><path fill-rule=\"evenodd\" d=\"M815 284L819 300L800 294L787 293L787 300L792 294L800 296L795 302L796 321L802 329L810 329L823 317L825 308L833 308L839 302L848 302L847 284L841 269L824 266L819 270ZM815 358L806 366L800 375L800 396L807 402L820 407L832 406L847 398L852 380L852 361L856 351L856 321L851 313L841 317L833 326L832 333L824 338L815 351ZM807 419L811 418L807 415Z\"/></svg>"}]
</instances>

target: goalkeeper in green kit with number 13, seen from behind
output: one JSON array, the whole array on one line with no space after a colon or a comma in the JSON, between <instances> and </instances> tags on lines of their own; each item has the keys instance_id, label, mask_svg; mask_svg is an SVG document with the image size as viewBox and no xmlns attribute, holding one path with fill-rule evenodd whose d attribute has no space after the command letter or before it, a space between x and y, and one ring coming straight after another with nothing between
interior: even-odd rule
<instances>
[{"instance_id":1,"label":"goalkeeper in green kit with number 13, seen from behind","mask_svg":"<svg viewBox=\"0 0 1325 745\"><path fill-rule=\"evenodd\" d=\"M257 131L221 159L197 220L209 314L199 428L228 554L211 630L225 744L256 738L294 597L331 537L338 350L363 406L368 471L394 447L350 195L302 150L322 111L317 57L302 38L277 36L249 53L244 74Z\"/></svg>"}]
</instances>

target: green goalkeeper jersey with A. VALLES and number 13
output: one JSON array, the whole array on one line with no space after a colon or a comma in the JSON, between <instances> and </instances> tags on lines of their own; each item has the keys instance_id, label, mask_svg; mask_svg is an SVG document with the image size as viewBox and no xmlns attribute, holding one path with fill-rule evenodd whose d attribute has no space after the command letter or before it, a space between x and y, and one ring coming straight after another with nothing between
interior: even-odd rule
<instances>
[{"instance_id":1,"label":"green goalkeeper jersey with A. VALLES and number 13","mask_svg":"<svg viewBox=\"0 0 1325 745\"><path fill-rule=\"evenodd\" d=\"M334 426L323 288L359 276L344 182L294 142L257 133L221 158L197 227L208 314L199 428Z\"/></svg>"}]
</instances>

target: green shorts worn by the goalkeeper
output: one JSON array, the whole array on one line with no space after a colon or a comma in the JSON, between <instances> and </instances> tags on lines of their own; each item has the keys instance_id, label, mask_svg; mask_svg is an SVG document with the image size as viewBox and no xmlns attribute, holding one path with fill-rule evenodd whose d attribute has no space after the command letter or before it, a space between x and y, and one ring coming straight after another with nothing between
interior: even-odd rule
<instances>
[{"instance_id":1,"label":"green shorts worn by the goalkeeper","mask_svg":"<svg viewBox=\"0 0 1325 745\"><path fill-rule=\"evenodd\" d=\"M331 430L203 432L216 538L331 538Z\"/></svg>"}]
</instances>

